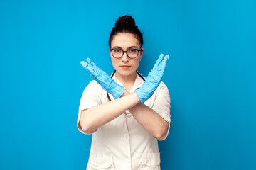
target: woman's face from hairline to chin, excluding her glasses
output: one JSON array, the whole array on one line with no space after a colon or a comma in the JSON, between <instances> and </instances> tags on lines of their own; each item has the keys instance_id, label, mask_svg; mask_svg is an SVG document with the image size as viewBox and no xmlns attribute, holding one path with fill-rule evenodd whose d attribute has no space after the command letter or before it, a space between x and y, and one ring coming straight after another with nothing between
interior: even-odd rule
<instances>
[{"instance_id":1,"label":"woman's face from hairline to chin, excluding her glasses","mask_svg":"<svg viewBox=\"0 0 256 170\"><path fill-rule=\"evenodd\" d=\"M133 34L118 33L113 37L111 48L119 48L127 51L129 49L140 49L140 44ZM139 62L142 58L143 52L144 49L142 48L142 51L139 52L138 56L132 59L127 56L127 53L124 53L121 58L114 58L112 56L112 52L110 51L112 64L114 69L117 70L117 74L122 76L130 76L134 74L139 67Z\"/></svg>"}]
</instances>

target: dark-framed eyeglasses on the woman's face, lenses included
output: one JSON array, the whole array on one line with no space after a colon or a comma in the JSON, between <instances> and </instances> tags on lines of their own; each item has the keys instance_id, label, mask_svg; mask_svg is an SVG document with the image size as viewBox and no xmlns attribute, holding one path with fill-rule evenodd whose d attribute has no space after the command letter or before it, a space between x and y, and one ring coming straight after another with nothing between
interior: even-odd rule
<instances>
[{"instance_id":1,"label":"dark-framed eyeglasses on the woman's face, lenses included","mask_svg":"<svg viewBox=\"0 0 256 170\"><path fill-rule=\"evenodd\" d=\"M127 51L124 51L120 48L110 49L110 51L112 52L113 57L115 57L115 58L121 58L124 55L124 52L126 52L127 56L129 58L132 58L132 59L136 58L141 50L142 49L134 49L134 48L129 49Z\"/></svg>"}]
</instances>

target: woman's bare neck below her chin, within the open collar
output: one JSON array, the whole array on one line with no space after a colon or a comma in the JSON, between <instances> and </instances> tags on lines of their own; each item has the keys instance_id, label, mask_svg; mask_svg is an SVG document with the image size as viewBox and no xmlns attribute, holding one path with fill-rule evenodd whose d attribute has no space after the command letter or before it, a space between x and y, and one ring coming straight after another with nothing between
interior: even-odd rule
<instances>
[{"instance_id":1,"label":"woman's bare neck below her chin, within the open collar","mask_svg":"<svg viewBox=\"0 0 256 170\"><path fill-rule=\"evenodd\" d=\"M120 81L120 83L124 85L125 89L131 90L136 80L137 72L134 72L133 74L127 76L121 75L118 72L116 72L116 77Z\"/></svg>"}]
</instances>

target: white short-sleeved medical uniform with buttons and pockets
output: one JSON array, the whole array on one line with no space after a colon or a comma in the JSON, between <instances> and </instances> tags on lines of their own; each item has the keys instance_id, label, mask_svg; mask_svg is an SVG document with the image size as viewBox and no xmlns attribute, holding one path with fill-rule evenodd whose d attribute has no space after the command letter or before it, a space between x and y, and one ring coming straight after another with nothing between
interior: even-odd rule
<instances>
[{"instance_id":1,"label":"white short-sleeved medical uniform with buttons and pockets","mask_svg":"<svg viewBox=\"0 0 256 170\"><path fill-rule=\"evenodd\" d=\"M116 77L112 79L121 84ZM143 79L137 75L134 86L129 92L142 86L143 82ZM110 98L114 101L111 94ZM80 132L85 133L79 125L81 111L107 102L109 102L107 92L96 81L90 81L80 100L78 113L78 130ZM153 108L156 113L170 123L170 102L167 86L161 82L151 98L144 104ZM168 133L169 128L161 140L166 139ZM91 169L160 169L158 142L142 128L132 115L130 117L125 114L119 115L93 132L87 164L87 170Z\"/></svg>"}]
</instances>

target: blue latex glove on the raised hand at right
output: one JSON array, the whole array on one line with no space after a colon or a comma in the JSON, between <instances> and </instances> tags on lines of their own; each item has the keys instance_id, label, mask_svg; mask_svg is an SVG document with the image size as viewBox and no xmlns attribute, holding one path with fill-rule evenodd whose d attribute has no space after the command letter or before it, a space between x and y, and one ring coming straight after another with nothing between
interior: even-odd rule
<instances>
[{"instance_id":1,"label":"blue latex glove on the raised hand at right","mask_svg":"<svg viewBox=\"0 0 256 170\"><path fill-rule=\"evenodd\" d=\"M149 72L148 77L146 77L146 81L144 81L139 89L135 90L135 93L137 94L139 100L142 101L142 103L149 99L153 95L156 88L159 86L168 59L169 55L164 56L161 54L159 59L156 60L156 64L154 64L153 69L151 72Z\"/></svg>"}]
</instances>

